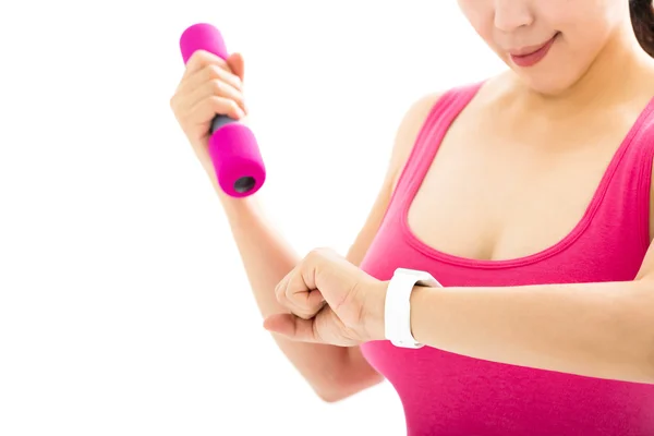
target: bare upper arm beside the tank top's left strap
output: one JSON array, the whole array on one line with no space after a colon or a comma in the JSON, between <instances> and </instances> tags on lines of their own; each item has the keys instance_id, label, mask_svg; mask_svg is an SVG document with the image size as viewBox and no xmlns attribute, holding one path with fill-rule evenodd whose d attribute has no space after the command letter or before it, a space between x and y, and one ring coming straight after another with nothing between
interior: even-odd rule
<instances>
[{"instance_id":1,"label":"bare upper arm beside the tank top's left strap","mask_svg":"<svg viewBox=\"0 0 654 436\"><path fill-rule=\"evenodd\" d=\"M419 99L411 108L409 108L400 122L382 187L377 193L377 197L368 213L365 223L348 251L347 258L352 264L360 265L370 249L373 239L382 225L382 219L386 214L390 197L401 171L404 168L404 164L411 154L415 138L434 104L440 96L440 93L434 93Z\"/></svg>"}]
</instances>

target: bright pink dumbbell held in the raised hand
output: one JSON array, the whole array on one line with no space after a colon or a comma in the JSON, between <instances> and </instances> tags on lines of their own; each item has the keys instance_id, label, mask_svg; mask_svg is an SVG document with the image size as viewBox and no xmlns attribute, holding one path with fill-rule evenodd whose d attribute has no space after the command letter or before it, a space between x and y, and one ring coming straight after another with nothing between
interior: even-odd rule
<instances>
[{"instance_id":1,"label":"bright pink dumbbell held in the raised hand","mask_svg":"<svg viewBox=\"0 0 654 436\"><path fill-rule=\"evenodd\" d=\"M205 23L184 31L180 49L184 63L196 50L206 50L222 59L228 57L220 32ZM266 168L254 134L230 117L217 114L211 121L209 156L220 189L232 197L254 194L266 180Z\"/></svg>"}]
</instances>

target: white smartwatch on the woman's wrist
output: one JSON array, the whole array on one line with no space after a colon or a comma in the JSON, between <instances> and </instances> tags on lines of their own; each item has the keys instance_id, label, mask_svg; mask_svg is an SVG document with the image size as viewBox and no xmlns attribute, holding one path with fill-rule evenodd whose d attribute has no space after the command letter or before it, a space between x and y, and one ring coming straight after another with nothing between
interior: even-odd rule
<instances>
[{"instance_id":1,"label":"white smartwatch on the woman's wrist","mask_svg":"<svg viewBox=\"0 0 654 436\"><path fill-rule=\"evenodd\" d=\"M386 291L384 330L386 339L396 347L421 348L411 332L411 291L413 287L440 287L431 274L415 269L395 270Z\"/></svg>"}]
</instances>

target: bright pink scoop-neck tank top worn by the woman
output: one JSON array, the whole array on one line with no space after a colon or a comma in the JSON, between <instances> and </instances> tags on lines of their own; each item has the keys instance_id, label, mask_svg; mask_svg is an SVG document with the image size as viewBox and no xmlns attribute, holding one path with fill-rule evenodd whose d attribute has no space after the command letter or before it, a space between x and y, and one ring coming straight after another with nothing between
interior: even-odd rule
<instances>
[{"instance_id":1,"label":"bright pink scoop-neck tank top worn by the woman","mask_svg":"<svg viewBox=\"0 0 654 436\"><path fill-rule=\"evenodd\" d=\"M420 132L362 268L388 280L397 267L429 271L444 286L631 280L649 245L654 100L608 165L581 221L540 253L474 261L425 245L409 205L457 114L481 84L451 89ZM654 385L498 364L434 348L362 347L395 387L409 436L653 436Z\"/></svg>"}]
</instances>

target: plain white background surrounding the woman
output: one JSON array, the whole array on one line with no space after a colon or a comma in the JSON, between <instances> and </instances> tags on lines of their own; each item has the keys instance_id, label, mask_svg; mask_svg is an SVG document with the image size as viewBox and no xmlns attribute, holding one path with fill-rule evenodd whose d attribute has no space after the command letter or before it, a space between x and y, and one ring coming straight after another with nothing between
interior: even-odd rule
<instances>
[{"instance_id":1,"label":"plain white background surrounding the woman","mask_svg":"<svg viewBox=\"0 0 654 436\"><path fill-rule=\"evenodd\" d=\"M169 99L179 36L244 55L261 191L344 253L408 107L502 65L455 1L2 1L0 435L402 435L388 384L318 400L263 330Z\"/></svg>"}]
</instances>

